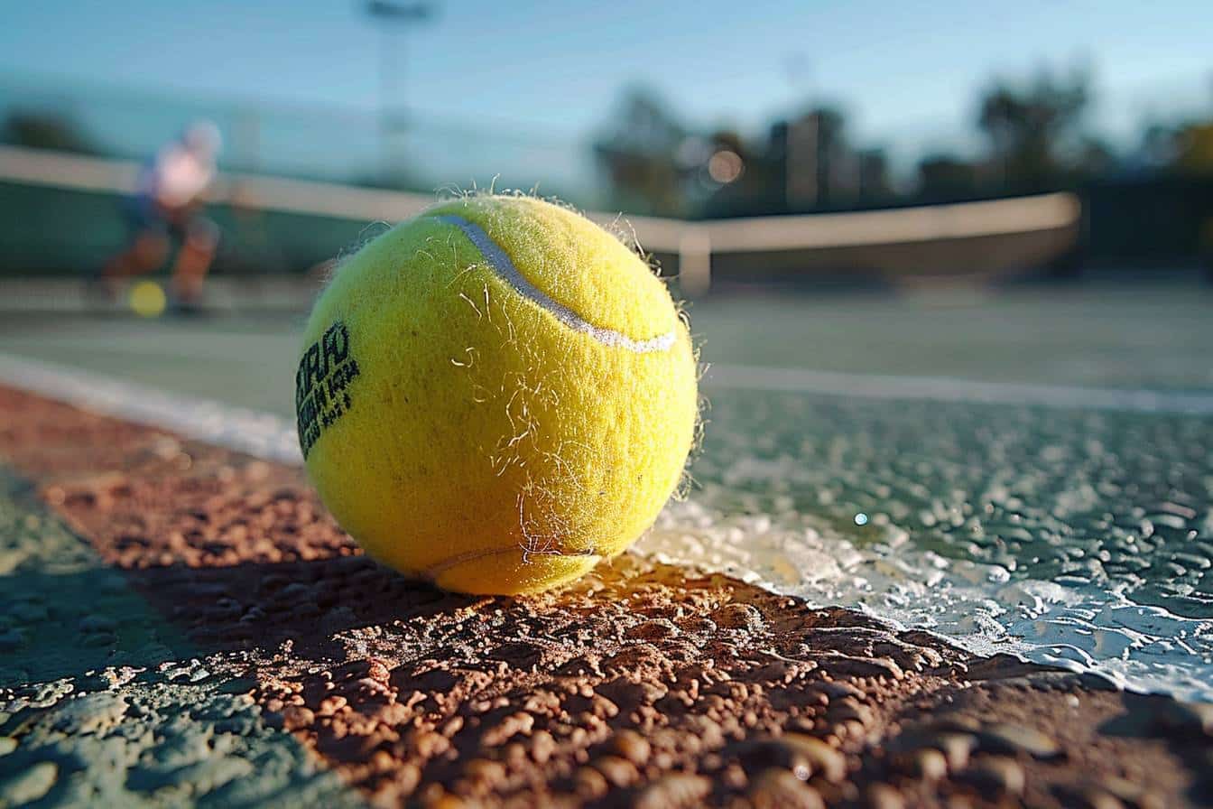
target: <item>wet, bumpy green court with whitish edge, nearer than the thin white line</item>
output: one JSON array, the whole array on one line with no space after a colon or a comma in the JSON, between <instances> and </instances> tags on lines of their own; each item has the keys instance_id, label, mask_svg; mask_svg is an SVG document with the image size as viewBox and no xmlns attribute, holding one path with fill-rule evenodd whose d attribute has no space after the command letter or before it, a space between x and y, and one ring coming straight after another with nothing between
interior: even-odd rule
<instances>
[{"instance_id":1,"label":"wet, bumpy green court with whitish edge, nearer than the thin white line","mask_svg":"<svg viewBox=\"0 0 1213 809\"><path fill-rule=\"evenodd\" d=\"M710 417L643 547L1213 697L1213 418L736 391Z\"/></svg>"}]
</instances>

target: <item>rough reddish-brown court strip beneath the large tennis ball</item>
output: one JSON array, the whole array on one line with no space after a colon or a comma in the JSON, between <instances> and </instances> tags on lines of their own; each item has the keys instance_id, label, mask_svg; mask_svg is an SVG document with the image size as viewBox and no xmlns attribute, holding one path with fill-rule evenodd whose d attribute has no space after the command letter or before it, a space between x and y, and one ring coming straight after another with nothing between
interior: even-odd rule
<instances>
[{"instance_id":1,"label":"rough reddish-brown court strip beneath the large tennis ball","mask_svg":"<svg viewBox=\"0 0 1213 809\"><path fill-rule=\"evenodd\" d=\"M1213 706L627 554L525 599L360 554L295 468L0 388L0 456L385 805L1172 807Z\"/></svg>"}]
</instances>

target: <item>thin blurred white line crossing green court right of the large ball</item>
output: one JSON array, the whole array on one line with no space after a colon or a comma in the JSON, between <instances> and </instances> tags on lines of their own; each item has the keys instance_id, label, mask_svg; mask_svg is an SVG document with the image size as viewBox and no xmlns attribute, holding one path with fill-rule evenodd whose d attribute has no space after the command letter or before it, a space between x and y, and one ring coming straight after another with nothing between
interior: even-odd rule
<instances>
[{"instance_id":1,"label":"thin blurred white line crossing green court right of the large ball","mask_svg":"<svg viewBox=\"0 0 1213 809\"><path fill-rule=\"evenodd\" d=\"M928 399L1127 412L1213 414L1213 392L1094 388L1026 382L974 382L933 376L881 376L795 368L711 365L704 387L824 393L869 399Z\"/></svg>"}]
</instances>

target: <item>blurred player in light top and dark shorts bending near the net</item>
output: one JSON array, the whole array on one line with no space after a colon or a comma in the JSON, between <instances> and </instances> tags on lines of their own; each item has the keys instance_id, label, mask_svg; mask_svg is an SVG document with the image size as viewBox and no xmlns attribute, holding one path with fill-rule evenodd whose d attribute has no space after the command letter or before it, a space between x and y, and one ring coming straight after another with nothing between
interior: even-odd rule
<instances>
[{"instance_id":1,"label":"blurred player in light top and dark shorts bending near the net","mask_svg":"<svg viewBox=\"0 0 1213 809\"><path fill-rule=\"evenodd\" d=\"M130 241L101 272L107 287L118 279L155 270L169 253L170 238L181 244L172 268L171 292L182 309L193 309L218 245L218 228L203 215L203 194L215 181L220 131L210 121L192 124L139 172L129 201Z\"/></svg>"}]
</instances>

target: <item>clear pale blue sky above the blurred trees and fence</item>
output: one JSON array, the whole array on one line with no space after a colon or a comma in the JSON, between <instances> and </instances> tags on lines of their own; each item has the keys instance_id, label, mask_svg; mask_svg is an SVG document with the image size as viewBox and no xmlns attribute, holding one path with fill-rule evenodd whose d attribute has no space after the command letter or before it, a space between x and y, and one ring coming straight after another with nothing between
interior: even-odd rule
<instances>
[{"instance_id":1,"label":"clear pale blue sky above the blurred trees and fence","mask_svg":"<svg viewBox=\"0 0 1213 809\"><path fill-rule=\"evenodd\" d=\"M1099 124L1213 107L1213 4L433 0L394 35L420 116L577 137L647 84L701 126L842 102L878 143L972 125L992 75L1083 62ZM980 7L984 6L984 7ZM358 0L0 0L6 75L374 110L387 39Z\"/></svg>"}]
</instances>

